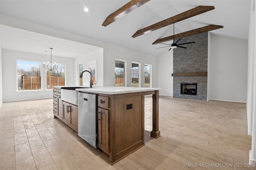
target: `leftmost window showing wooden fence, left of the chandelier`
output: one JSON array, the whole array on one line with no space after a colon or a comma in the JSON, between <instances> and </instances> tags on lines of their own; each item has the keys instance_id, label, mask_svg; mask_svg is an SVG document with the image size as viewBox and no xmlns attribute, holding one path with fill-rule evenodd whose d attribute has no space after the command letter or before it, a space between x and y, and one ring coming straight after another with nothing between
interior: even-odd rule
<instances>
[{"instance_id":1,"label":"leftmost window showing wooden fence, left of the chandelier","mask_svg":"<svg viewBox=\"0 0 256 170\"><path fill-rule=\"evenodd\" d=\"M41 90L40 62L17 60L17 89Z\"/></svg>"}]
</instances>

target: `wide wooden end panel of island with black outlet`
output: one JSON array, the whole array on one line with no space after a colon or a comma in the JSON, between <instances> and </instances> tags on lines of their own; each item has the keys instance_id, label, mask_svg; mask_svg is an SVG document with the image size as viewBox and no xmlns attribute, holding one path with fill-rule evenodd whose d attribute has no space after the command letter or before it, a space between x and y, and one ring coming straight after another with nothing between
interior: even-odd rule
<instances>
[{"instance_id":1,"label":"wide wooden end panel of island with black outlet","mask_svg":"<svg viewBox=\"0 0 256 170\"><path fill-rule=\"evenodd\" d=\"M109 160L114 163L144 146L144 94L116 94L111 101Z\"/></svg>"}]
</instances>

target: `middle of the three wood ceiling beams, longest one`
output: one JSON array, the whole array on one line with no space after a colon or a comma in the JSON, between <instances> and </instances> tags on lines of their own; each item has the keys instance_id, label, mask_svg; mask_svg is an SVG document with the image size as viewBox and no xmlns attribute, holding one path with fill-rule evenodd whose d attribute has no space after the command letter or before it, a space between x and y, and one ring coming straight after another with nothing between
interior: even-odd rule
<instances>
[{"instance_id":1,"label":"middle of the three wood ceiling beams, longest one","mask_svg":"<svg viewBox=\"0 0 256 170\"><path fill-rule=\"evenodd\" d=\"M158 23L155 23L153 25L150 25L148 27L140 29L140 30L136 31L136 33L134 33L134 35L132 35L132 37L134 37L134 38L138 37L140 35L143 35L143 34L151 32L151 31L154 31L156 29L165 27L167 25L176 23L178 21L186 20L190 17L202 14L202 13L210 11L210 10L214 10L214 6L198 6L196 8L191 9L191 10L182 12L182 13L176 15L176 16L168 18L166 20L160 21Z\"/></svg>"}]
</instances>

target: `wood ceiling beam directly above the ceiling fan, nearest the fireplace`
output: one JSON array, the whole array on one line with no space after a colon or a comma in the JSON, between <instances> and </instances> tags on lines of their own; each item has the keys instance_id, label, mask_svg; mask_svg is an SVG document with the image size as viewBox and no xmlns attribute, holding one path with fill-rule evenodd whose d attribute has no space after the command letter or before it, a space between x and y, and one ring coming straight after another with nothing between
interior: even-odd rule
<instances>
[{"instance_id":1,"label":"wood ceiling beam directly above the ceiling fan, nearest the fireplace","mask_svg":"<svg viewBox=\"0 0 256 170\"><path fill-rule=\"evenodd\" d=\"M163 43L163 42L166 42L166 41L170 41L170 40L173 40L173 37L175 37L175 39L178 39L178 38L183 38L183 37L187 37L187 36L190 36L190 35L196 35L196 34L199 34L199 33L204 33L204 32L207 32L207 31L212 31L214 29L219 29L219 28L223 28L223 26L221 26L221 25L213 25L212 24L212 25L208 25L208 26L205 26L205 27L200 27L200 28L197 28L197 29L192 29L190 31L186 31L186 32L183 32L183 33L178 33L178 34L175 34L174 36L171 35L171 36L168 36L168 37L160 38L160 39L157 39L152 44L155 45L155 44Z\"/></svg>"}]
</instances>

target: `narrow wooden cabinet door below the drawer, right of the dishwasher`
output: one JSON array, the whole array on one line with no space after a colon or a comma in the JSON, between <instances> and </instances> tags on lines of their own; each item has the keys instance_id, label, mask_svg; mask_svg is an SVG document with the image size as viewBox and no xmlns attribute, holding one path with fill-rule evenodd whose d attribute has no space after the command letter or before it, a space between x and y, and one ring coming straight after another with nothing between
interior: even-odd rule
<instances>
[{"instance_id":1,"label":"narrow wooden cabinet door below the drawer, right of the dishwasher","mask_svg":"<svg viewBox=\"0 0 256 170\"><path fill-rule=\"evenodd\" d=\"M98 108L99 148L109 153L109 110Z\"/></svg>"}]
</instances>

